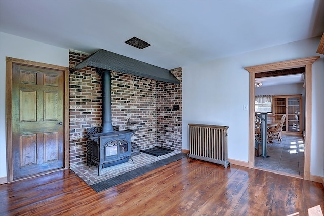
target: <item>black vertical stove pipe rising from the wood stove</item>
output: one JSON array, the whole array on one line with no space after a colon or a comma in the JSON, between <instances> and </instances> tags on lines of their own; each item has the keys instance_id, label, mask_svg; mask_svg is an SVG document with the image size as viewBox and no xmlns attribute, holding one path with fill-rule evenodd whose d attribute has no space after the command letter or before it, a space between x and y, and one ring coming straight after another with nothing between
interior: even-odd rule
<instances>
[{"instance_id":1,"label":"black vertical stove pipe rising from the wood stove","mask_svg":"<svg viewBox=\"0 0 324 216\"><path fill-rule=\"evenodd\" d=\"M102 90L102 132L113 132L111 122L111 73L110 70L99 69Z\"/></svg>"}]
</instances>

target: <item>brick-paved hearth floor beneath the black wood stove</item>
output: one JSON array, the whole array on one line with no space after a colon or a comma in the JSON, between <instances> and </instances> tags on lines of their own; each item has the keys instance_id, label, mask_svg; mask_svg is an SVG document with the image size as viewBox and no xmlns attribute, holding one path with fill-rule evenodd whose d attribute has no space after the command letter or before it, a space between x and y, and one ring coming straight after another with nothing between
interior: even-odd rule
<instances>
[{"instance_id":1,"label":"brick-paved hearth floor beneath the black wood stove","mask_svg":"<svg viewBox=\"0 0 324 216\"><path fill-rule=\"evenodd\" d=\"M152 162L165 159L167 157L173 156L175 154L179 154L180 152L173 151L171 153L156 157L149 154L139 152L133 154L132 158L134 160L134 164L132 160L128 162L121 163L115 166L110 166L107 168L101 169L100 176L98 176L98 166L88 167L86 164L78 165L71 167L70 169L75 172L75 174L80 177L83 181L85 181L88 185L93 185L97 182L101 182L106 179L110 179L112 177L124 174L125 172L131 171L133 169L139 168L141 166L150 164Z\"/></svg>"}]
</instances>

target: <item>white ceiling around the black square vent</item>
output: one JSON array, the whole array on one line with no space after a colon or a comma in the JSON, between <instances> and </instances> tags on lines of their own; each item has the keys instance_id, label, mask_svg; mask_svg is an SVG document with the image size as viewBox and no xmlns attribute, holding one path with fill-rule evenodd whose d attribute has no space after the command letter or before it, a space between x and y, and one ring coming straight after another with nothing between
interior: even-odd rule
<instances>
[{"instance_id":1,"label":"white ceiling around the black square vent","mask_svg":"<svg viewBox=\"0 0 324 216\"><path fill-rule=\"evenodd\" d=\"M172 69L320 36L324 1L0 0L0 31Z\"/></svg>"}]
</instances>

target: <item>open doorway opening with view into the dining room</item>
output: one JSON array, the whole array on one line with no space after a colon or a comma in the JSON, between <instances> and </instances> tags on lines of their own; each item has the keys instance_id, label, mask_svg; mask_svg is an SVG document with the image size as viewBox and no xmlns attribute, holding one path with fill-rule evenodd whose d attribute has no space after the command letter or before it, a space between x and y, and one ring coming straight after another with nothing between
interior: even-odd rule
<instances>
[{"instance_id":1,"label":"open doorway opening with view into the dining room","mask_svg":"<svg viewBox=\"0 0 324 216\"><path fill-rule=\"evenodd\" d=\"M267 142L256 144L255 167L303 176L304 74L305 67L256 74L255 112L267 114Z\"/></svg>"}]
</instances>

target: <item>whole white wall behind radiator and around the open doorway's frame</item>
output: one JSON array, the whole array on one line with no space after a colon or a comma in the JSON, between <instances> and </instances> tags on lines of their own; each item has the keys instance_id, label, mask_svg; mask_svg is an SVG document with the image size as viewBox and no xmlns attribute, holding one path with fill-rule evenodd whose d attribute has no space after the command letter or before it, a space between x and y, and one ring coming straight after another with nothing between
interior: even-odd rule
<instances>
[{"instance_id":1,"label":"whole white wall behind radiator and around the open doorway's frame","mask_svg":"<svg viewBox=\"0 0 324 216\"><path fill-rule=\"evenodd\" d=\"M248 162L249 73L244 67L316 54L320 37L183 67L182 148L188 147L188 123L229 126L228 157ZM324 56L313 64L311 175L324 176Z\"/></svg>"}]
</instances>

